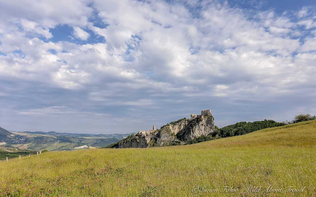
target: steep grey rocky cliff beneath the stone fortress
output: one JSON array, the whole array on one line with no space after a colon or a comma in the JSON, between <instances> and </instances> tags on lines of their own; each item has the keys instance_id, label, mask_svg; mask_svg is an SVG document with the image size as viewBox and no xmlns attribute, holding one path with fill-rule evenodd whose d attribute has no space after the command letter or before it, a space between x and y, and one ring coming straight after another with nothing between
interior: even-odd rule
<instances>
[{"instance_id":1,"label":"steep grey rocky cliff beneath the stone fortress","mask_svg":"<svg viewBox=\"0 0 316 197\"><path fill-rule=\"evenodd\" d=\"M162 126L148 135L139 133L128 136L109 146L110 148L146 148L153 146L172 146L185 143L201 135L208 135L215 130L214 118L197 116L191 119L179 119Z\"/></svg>"}]
</instances>

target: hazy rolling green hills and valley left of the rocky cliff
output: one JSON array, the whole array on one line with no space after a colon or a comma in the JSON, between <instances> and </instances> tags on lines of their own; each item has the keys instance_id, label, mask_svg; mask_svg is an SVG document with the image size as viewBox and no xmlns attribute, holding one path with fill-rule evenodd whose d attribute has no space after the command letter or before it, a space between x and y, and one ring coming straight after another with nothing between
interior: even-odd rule
<instances>
[{"instance_id":1,"label":"hazy rolling green hills and valley left of the rocky cliff","mask_svg":"<svg viewBox=\"0 0 316 197\"><path fill-rule=\"evenodd\" d=\"M0 148L2 150L49 150L60 151L85 148L99 148L118 142L128 134L80 134L55 131L8 131L0 127Z\"/></svg>"}]
</instances>

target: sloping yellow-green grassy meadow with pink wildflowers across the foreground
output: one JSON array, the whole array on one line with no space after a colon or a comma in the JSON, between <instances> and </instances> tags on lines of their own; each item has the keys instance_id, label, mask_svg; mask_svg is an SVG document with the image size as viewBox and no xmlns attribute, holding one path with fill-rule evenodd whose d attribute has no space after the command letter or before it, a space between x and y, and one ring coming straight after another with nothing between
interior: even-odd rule
<instances>
[{"instance_id":1,"label":"sloping yellow-green grassy meadow with pink wildflowers across the foreground","mask_svg":"<svg viewBox=\"0 0 316 197\"><path fill-rule=\"evenodd\" d=\"M186 146L48 152L0 162L0 173L0 196L316 196L316 121Z\"/></svg>"}]
</instances>

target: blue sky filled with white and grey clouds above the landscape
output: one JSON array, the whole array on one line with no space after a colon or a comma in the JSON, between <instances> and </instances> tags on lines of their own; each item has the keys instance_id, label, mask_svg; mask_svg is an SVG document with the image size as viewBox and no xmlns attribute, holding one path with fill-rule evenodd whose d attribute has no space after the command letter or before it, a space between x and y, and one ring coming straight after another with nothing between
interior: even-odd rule
<instances>
[{"instance_id":1,"label":"blue sky filled with white and grey clouds above the landscape","mask_svg":"<svg viewBox=\"0 0 316 197\"><path fill-rule=\"evenodd\" d=\"M0 126L130 133L316 114L314 0L0 0Z\"/></svg>"}]
</instances>

